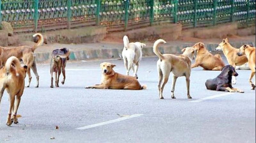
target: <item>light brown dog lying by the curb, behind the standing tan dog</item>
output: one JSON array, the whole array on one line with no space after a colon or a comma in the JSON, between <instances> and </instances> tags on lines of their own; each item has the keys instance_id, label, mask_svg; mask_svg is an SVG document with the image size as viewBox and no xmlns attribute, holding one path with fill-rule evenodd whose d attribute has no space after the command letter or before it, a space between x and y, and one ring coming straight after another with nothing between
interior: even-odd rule
<instances>
[{"instance_id":1,"label":"light brown dog lying by the curb, behind the standing tan dog","mask_svg":"<svg viewBox=\"0 0 256 143\"><path fill-rule=\"evenodd\" d=\"M225 66L219 54L213 56L204 46L204 43L196 43L193 48L196 49L196 62L192 64L192 68L201 66L204 70L221 71Z\"/></svg>"}]
</instances>

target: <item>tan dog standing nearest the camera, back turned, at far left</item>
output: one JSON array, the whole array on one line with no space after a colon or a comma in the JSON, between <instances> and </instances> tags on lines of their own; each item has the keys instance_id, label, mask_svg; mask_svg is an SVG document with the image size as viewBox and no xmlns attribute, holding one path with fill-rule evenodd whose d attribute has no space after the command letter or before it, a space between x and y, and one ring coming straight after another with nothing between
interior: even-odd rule
<instances>
[{"instance_id":1,"label":"tan dog standing nearest the camera, back turned, at far left","mask_svg":"<svg viewBox=\"0 0 256 143\"><path fill-rule=\"evenodd\" d=\"M20 98L25 87L24 79L26 78L27 68L26 65L20 65L20 60L17 57L11 56L7 59L5 66L0 70L0 102L5 89L7 89L9 94L10 106L6 121L6 125L8 126L10 126L13 121L14 124L19 123L16 115L20 105Z\"/></svg>"}]
</instances>

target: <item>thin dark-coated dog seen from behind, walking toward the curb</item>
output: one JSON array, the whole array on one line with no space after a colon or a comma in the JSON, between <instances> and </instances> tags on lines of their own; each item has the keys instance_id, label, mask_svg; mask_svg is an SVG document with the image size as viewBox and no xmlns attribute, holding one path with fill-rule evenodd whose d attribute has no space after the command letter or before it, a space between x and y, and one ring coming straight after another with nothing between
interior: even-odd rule
<instances>
[{"instance_id":1,"label":"thin dark-coated dog seen from behind, walking toward the curb","mask_svg":"<svg viewBox=\"0 0 256 143\"><path fill-rule=\"evenodd\" d=\"M61 81L62 85L65 83L66 71L65 67L67 60L69 60L70 49L62 48L55 49L52 51L52 60L51 60L51 88L53 88L53 72L55 72L55 86L59 87L59 79L62 71L63 80Z\"/></svg>"}]
</instances>

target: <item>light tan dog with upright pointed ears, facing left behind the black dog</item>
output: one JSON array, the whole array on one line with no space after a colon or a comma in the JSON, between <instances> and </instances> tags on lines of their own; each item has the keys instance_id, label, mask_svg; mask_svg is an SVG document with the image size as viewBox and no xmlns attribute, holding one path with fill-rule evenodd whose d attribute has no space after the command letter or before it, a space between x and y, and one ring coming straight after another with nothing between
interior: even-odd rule
<instances>
[{"instance_id":1,"label":"light tan dog with upright pointed ears, facing left behind the black dog","mask_svg":"<svg viewBox=\"0 0 256 143\"><path fill-rule=\"evenodd\" d=\"M222 42L219 44L219 46L216 48L216 51L220 51L220 50L222 50L224 55L226 56L228 60L228 64L232 65L234 68L236 68L236 66L241 66L248 62L248 59L246 56L237 55L237 53L239 52L239 49L232 47L228 42L228 38L223 39ZM235 76L233 76L232 78L232 84L236 84Z\"/></svg>"}]
</instances>

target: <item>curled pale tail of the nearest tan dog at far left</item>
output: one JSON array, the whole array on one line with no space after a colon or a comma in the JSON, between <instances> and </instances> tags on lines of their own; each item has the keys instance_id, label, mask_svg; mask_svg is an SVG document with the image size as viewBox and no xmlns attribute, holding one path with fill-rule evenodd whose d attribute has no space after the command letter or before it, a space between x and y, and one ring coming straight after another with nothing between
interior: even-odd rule
<instances>
[{"instance_id":1,"label":"curled pale tail of the nearest tan dog at far left","mask_svg":"<svg viewBox=\"0 0 256 143\"><path fill-rule=\"evenodd\" d=\"M16 56L8 58L5 64L6 75L9 75L13 71L16 73L17 68L20 68L20 60Z\"/></svg>"}]
</instances>

